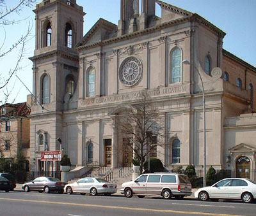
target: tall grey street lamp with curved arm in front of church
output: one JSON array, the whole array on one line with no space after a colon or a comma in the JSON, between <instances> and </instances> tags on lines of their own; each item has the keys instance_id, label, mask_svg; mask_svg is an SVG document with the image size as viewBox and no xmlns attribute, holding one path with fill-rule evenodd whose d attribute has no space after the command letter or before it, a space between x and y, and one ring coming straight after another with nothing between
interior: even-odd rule
<instances>
[{"instance_id":1,"label":"tall grey street lamp with curved arm in front of church","mask_svg":"<svg viewBox=\"0 0 256 216\"><path fill-rule=\"evenodd\" d=\"M189 65L190 62L188 60L184 60L182 61L183 64L187 64ZM205 96L204 96L204 83L203 83L203 80L202 80L202 76L200 75L198 69L196 69L196 72L198 73L199 77L200 77L200 80L201 80L201 83L202 83L202 89L203 89L203 106L204 106L204 187L206 187L206 134L205 134Z\"/></svg>"}]
</instances>

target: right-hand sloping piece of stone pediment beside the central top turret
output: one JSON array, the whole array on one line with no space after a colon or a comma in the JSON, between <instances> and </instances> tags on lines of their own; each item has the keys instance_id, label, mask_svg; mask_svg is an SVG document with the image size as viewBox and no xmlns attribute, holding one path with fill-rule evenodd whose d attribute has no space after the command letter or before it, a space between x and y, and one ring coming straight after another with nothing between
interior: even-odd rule
<instances>
[{"instance_id":1,"label":"right-hand sloping piece of stone pediment beside the central top turret","mask_svg":"<svg viewBox=\"0 0 256 216\"><path fill-rule=\"evenodd\" d=\"M161 7L162 19L164 18L168 21L184 17L191 17L193 15L193 13L189 11L173 6L172 4L164 3L163 1L156 0L156 3Z\"/></svg>"}]
</instances>

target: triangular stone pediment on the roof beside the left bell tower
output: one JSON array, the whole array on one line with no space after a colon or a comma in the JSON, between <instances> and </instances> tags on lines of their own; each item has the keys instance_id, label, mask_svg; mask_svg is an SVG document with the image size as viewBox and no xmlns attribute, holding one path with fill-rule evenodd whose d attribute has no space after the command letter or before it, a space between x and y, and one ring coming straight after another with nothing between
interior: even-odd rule
<instances>
[{"instance_id":1,"label":"triangular stone pediment on the roof beside the left bell tower","mask_svg":"<svg viewBox=\"0 0 256 216\"><path fill-rule=\"evenodd\" d=\"M117 25L100 18L93 27L84 35L83 39L77 43L76 47L90 45L109 39L109 35L115 32Z\"/></svg>"}]
</instances>

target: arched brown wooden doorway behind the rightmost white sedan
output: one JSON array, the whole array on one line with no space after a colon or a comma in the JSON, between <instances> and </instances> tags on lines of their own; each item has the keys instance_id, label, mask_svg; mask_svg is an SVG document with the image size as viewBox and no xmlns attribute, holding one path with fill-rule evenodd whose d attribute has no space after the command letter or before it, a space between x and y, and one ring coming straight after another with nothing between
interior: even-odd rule
<instances>
[{"instance_id":1,"label":"arched brown wooden doorway behind the rightmost white sedan","mask_svg":"<svg viewBox=\"0 0 256 216\"><path fill-rule=\"evenodd\" d=\"M241 156L236 160L236 177L250 178L250 159L246 156Z\"/></svg>"}]
</instances>

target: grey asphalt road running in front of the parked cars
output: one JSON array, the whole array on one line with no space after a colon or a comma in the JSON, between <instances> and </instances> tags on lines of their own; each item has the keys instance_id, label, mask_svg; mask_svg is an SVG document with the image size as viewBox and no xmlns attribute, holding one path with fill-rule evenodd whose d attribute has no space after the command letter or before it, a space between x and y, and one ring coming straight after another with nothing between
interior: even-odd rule
<instances>
[{"instance_id":1,"label":"grey asphalt road running in front of the parked cars","mask_svg":"<svg viewBox=\"0 0 256 216\"><path fill-rule=\"evenodd\" d=\"M201 202L196 199L139 199L123 196L81 196L0 191L0 215L256 215L256 204L240 201Z\"/></svg>"}]
</instances>

